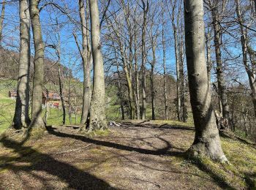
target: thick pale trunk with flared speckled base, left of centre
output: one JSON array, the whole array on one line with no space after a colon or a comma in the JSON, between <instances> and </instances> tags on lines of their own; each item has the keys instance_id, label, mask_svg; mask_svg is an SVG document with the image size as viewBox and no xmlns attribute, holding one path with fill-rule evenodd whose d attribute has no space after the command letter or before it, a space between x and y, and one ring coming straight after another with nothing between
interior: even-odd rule
<instances>
[{"instance_id":1,"label":"thick pale trunk with flared speckled base, left of centre","mask_svg":"<svg viewBox=\"0 0 256 190\"><path fill-rule=\"evenodd\" d=\"M93 91L90 106L89 131L107 129L105 116L105 78L100 44L99 9L97 0L89 0L91 16L91 50L94 62Z\"/></svg>"}]
</instances>

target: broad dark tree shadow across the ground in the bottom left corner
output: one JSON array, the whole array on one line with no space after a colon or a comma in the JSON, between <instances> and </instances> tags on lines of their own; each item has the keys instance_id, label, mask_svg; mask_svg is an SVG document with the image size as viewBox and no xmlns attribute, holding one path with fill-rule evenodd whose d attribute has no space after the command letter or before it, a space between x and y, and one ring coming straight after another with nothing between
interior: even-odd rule
<instances>
[{"instance_id":1,"label":"broad dark tree shadow across the ground in the bottom left corner","mask_svg":"<svg viewBox=\"0 0 256 190\"><path fill-rule=\"evenodd\" d=\"M25 159L24 161L28 161L29 165L18 166L12 164L12 162L7 162L0 167L2 169L12 170L16 174L18 172L29 172L31 175L33 175L34 178L39 179L40 182L45 185L45 187L49 187L49 179L42 178L41 176L36 175L33 171L48 172L48 174L54 175L67 183L67 188L70 189L114 189L104 180L96 178L94 175L91 175L88 172L84 172L83 170L78 170L76 167L73 167L70 164L57 161L47 154L39 153L31 147L23 146L20 143L13 140L8 140L7 138L3 138L1 142L6 148L11 148L15 153L20 154L19 158L15 159L16 161L19 159L24 159L24 157L28 156L28 159ZM36 159L29 159L30 156L33 158L39 158L39 161ZM4 160L8 159L12 158L4 158Z\"/></svg>"}]
</instances>

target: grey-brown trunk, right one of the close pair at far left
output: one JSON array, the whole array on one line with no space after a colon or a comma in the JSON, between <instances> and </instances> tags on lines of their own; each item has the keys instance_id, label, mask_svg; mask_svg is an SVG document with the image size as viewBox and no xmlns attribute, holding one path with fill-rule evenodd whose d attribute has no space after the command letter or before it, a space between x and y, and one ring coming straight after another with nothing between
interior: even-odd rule
<instances>
[{"instance_id":1,"label":"grey-brown trunk, right one of the close pair at far left","mask_svg":"<svg viewBox=\"0 0 256 190\"><path fill-rule=\"evenodd\" d=\"M42 85L44 80L44 49L42 30L39 19L39 0L29 0L31 25L34 37L34 81L32 96L32 120L30 127L43 128L42 120Z\"/></svg>"}]
</instances>

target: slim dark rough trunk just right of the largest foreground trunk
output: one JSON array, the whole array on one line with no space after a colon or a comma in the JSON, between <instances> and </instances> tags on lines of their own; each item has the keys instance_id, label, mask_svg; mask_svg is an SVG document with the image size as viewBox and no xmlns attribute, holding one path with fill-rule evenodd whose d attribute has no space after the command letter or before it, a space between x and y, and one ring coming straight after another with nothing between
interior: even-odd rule
<instances>
[{"instance_id":1,"label":"slim dark rough trunk just right of the largest foreground trunk","mask_svg":"<svg viewBox=\"0 0 256 190\"><path fill-rule=\"evenodd\" d=\"M223 72L223 65L222 65L222 54L220 50L221 45L221 29L219 25L219 18L217 7L214 7L211 10L211 15L213 19L213 27L214 27L214 47L215 47L215 55L216 55L216 63L217 63L217 80L218 80L218 92L219 97L222 102L222 116L223 118L230 120L229 116L229 106L227 104L227 89L225 86L225 75Z\"/></svg>"}]
</instances>

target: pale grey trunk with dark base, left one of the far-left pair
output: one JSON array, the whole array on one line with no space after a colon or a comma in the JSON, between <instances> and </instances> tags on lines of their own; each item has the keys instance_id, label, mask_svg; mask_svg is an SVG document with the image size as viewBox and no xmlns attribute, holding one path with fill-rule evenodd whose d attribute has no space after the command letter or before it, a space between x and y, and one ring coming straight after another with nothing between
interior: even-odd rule
<instances>
[{"instance_id":1,"label":"pale grey trunk with dark base, left one of the far-left pair","mask_svg":"<svg viewBox=\"0 0 256 190\"><path fill-rule=\"evenodd\" d=\"M20 58L17 99L13 126L28 127L29 119L29 66L30 66L30 17L27 0L20 0Z\"/></svg>"}]
</instances>

